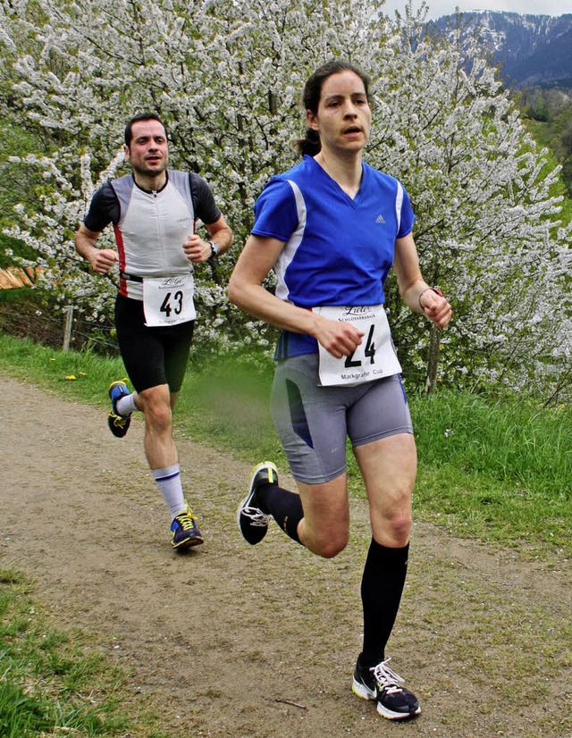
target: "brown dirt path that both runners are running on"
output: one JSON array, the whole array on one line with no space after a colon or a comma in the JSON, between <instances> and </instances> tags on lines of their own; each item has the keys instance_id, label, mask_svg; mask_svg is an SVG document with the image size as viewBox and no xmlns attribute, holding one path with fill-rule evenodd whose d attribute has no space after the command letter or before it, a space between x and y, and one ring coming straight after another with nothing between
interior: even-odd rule
<instances>
[{"instance_id":1,"label":"brown dirt path that both runners are running on","mask_svg":"<svg viewBox=\"0 0 572 738\"><path fill-rule=\"evenodd\" d=\"M569 562L416 524L390 653L423 713L393 724L349 690L363 502L332 561L275 526L251 548L234 520L249 465L180 439L206 543L176 555L140 422L116 440L92 407L2 378L0 397L0 566L26 572L59 625L100 633L172 736L572 736Z\"/></svg>"}]
</instances>

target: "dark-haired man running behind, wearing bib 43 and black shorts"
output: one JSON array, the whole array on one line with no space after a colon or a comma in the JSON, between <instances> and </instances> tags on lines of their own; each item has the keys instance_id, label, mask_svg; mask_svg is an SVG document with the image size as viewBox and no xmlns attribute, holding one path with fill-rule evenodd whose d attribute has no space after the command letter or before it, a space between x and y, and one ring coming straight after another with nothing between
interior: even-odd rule
<instances>
[{"instance_id":1,"label":"dark-haired man running behind, wearing bib 43 and black shorts","mask_svg":"<svg viewBox=\"0 0 572 738\"><path fill-rule=\"evenodd\" d=\"M127 123L124 152L132 174L97 190L75 245L97 274L107 274L119 263L115 326L135 391L122 381L112 382L108 423L114 436L122 438L131 414L144 413L145 454L169 508L172 546L188 549L203 537L182 490L172 411L196 316L193 264L223 254L231 246L232 232L204 180L167 169L167 135L155 113L140 113ZM198 219L211 240L195 233ZM117 251L97 247L110 222Z\"/></svg>"}]
</instances>

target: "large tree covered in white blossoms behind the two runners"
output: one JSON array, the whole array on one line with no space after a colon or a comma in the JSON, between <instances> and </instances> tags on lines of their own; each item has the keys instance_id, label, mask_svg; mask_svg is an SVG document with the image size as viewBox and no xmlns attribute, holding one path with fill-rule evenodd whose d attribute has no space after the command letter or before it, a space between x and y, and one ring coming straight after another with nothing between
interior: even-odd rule
<instances>
[{"instance_id":1,"label":"large tree covered in white blossoms behind the two runners","mask_svg":"<svg viewBox=\"0 0 572 738\"><path fill-rule=\"evenodd\" d=\"M570 229L553 196L558 172L473 42L425 37L423 10L382 12L382 0L1 0L3 113L47 142L10 170L42 172L10 231L34 248L41 281L62 305L108 320L114 280L88 273L73 232L94 190L126 171L124 122L154 110L172 165L206 178L235 231L230 256L198 270L198 340L267 344L270 331L228 304L225 284L258 193L296 161L307 75L346 58L372 80L366 160L408 189L425 278L455 310L450 328L430 335L389 284L409 381L423 384L427 365L435 379L441 347L442 382L569 391Z\"/></svg>"}]
</instances>

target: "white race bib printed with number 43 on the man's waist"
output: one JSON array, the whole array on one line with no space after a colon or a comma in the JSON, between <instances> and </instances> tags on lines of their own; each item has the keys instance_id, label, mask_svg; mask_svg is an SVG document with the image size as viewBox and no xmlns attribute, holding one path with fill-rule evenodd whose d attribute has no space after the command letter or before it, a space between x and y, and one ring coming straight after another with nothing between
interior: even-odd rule
<instances>
[{"instance_id":1,"label":"white race bib printed with number 43 on the man's waist","mask_svg":"<svg viewBox=\"0 0 572 738\"><path fill-rule=\"evenodd\" d=\"M195 320L193 302L195 281L192 274L177 277L145 277L143 309L145 324L150 327L177 325Z\"/></svg>"}]
</instances>

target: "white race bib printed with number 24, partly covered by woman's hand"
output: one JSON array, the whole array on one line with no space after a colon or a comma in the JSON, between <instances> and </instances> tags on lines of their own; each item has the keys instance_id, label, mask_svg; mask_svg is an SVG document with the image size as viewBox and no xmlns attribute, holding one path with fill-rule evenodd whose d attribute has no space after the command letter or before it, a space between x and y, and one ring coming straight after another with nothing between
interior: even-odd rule
<instances>
[{"instance_id":1,"label":"white race bib printed with number 24, partly covered by woman's hand","mask_svg":"<svg viewBox=\"0 0 572 738\"><path fill-rule=\"evenodd\" d=\"M401 372L383 305L320 306L314 307L313 312L329 320L351 323L364 333L354 353L341 359L332 356L319 344L320 381L323 385L354 386Z\"/></svg>"}]
</instances>

